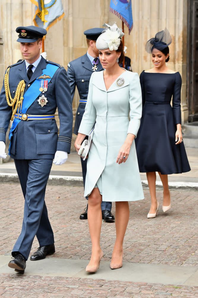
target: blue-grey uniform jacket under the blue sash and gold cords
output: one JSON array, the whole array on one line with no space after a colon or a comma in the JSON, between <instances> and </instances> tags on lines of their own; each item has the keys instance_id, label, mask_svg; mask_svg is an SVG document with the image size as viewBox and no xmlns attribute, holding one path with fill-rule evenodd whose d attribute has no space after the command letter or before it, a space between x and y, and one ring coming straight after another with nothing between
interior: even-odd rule
<instances>
[{"instance_id":1,"label":"blue-grey uniform jacket under the blue sash and gold cords","mask_svg":"<svg viewBox=\"0 0 198 298\"><path fill-rule=\"evenodd\" d=\"M28 79L25 61L14 64L9 71L9 88L12 97L15 96L20 80L26 83L25 92L34 80L42 75L47 63L56 64L41 58L34 70L31 79ZM38 103L39 97L28 108L26 114L30 115L52 115L58 107L60 120L60 132L55 119L46 120L21 120L13 131L10 153L14 159L53 159L56 150L70 152L72 140L72 99L71 89L66 70L59 64L52 79L48 83L48 89L44 93L47 104L41 107ZM47 73L45 73L47 75ZM5 142L6 131L12 115L12 108L6 101L4 84L0 93L0 141Z\"/></svg>"}]
</instances>

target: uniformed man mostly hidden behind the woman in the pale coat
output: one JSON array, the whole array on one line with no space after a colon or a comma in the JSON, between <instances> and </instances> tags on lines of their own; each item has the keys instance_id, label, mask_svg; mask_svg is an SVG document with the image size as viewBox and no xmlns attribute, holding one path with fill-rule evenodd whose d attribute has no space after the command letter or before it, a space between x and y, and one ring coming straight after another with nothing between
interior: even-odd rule
<instances>
[{"instance_id":1,"label":"uniformed man mostly hidden behind the woman in the pale coat","mask_svg":"<svg viewBox=\"0 0 198 298\"><path fill-rule=\"evenodd\" d=\"M96 39L102 33L104 29L102 28L93 28L86 30L84 34L87 38L87 45L88 50L87 53L68 64L67 74L69 77L69 83L72 91L72 100L74 98L75 87L77 86L78 93L80 96L79 106L76 112L76 119L75 119L75 127L74 133L78 134L78 129L80 127L80 122L82 120L83 114L85 112L85 105L87 102L87 95L88 95L88 88L89 88L89 80L91 74L93 72L102 71L102 65L100 64L99 60L99 52L96 48ZM87 172L87 159L83 161L82 158L81 165L82 165L82 172L83 172L83 183L85 186L85 176ZM88 198L86 198L88 199ZM111 202L102 202L101 209L102 209L102 218L106 222L114 221L114 216L111 214ZM87 219L87 209L88 205L85 208L85 212L80 215L80 219Z\"/></svg>"}]
</instances>

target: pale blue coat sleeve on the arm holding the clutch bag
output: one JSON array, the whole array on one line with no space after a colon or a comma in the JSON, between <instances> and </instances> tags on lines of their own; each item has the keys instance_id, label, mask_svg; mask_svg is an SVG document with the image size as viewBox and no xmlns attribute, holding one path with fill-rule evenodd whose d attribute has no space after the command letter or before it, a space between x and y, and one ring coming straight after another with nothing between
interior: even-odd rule
<instances>
[{"instance_id":1,"label":"pale blue coat sleeve on the arm holding the clutch bag","mask_svg":"<svg viewBox=\"0 0 198 298\"><path fill-rule=\"evenodd\" d=\"M92 92L93 92L93 75L91 75L90 81L89 81L89 92L87 96L87 103L85 106L85 113L83 114L82 121L80 123L80 127L78 132L80 134L86 134L88 135L91 131L91 129L94 126L94 123L96 122L96 108L93 105L92 102Z\"/></svg>"}]
</instances>

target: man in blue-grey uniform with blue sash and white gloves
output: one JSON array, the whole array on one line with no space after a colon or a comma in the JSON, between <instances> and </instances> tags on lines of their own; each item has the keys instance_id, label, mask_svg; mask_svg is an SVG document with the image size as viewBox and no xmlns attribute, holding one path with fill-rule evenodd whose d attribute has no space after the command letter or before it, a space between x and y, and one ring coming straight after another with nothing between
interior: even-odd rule
<instances>
[{"instance_id":1,"label":"man in blue-grey uniform with blue sash and white gloves","mask_svg":"<svg viewBox=\"0 0 198 298\"><path fill-rule=\"evenodd\" d=\"M55 252L54 236L45 205L45 189L53 158L63 164L72 138L72 99L64 67L40 55L47 31L18 27L22 60L7 68L0 93L0 157L6 158L5 136L10 119L9 154L15 161L25 198L22 230L8 264L23 273L35 235L39 248L30 260ZM55 120L58 106L60 133Z\"/></svg>"}]
</instances>

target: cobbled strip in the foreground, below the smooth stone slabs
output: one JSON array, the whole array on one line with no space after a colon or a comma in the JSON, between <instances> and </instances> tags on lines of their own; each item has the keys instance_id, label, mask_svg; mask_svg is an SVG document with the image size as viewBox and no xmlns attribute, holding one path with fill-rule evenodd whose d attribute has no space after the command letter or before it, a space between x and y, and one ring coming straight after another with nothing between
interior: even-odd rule
<instances>
[{"instance_id":1,"label":"cobbled strip in the foreground, below the smooth stone slabs","mask_svg":"<svg viewBox=\"0 0 198 298\"><path fill-rule=\"evenodd\" d=\"M198 287L1 274L0 297L197 298ZM18 294L20 293L20 294Z\"/></svg>"}]
</instances>

